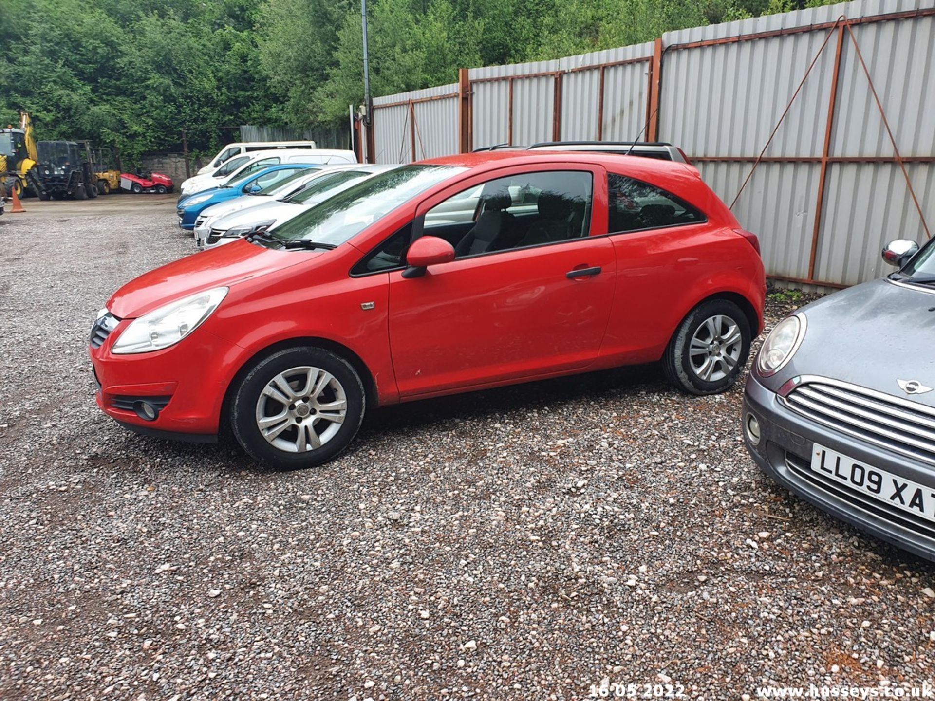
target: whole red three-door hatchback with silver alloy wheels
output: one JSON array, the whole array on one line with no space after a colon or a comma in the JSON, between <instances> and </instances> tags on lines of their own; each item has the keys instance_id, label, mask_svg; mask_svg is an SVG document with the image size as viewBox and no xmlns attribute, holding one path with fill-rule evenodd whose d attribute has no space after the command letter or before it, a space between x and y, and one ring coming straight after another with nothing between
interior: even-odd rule
<instances>
[{"instance_id":1,"label":"whole red three-door hatchback with silver alloy wheels","mask_svg":"<svg viewBox=\"0 0 935 701\"><path fill-rule=\"evenodd\" d=\"M690 165L493 151L400 166L124 285L97 404L141 433L318 465L367 408L661 360L723 392L762 326L756 237Z\"/></svg>"}]
</instances>

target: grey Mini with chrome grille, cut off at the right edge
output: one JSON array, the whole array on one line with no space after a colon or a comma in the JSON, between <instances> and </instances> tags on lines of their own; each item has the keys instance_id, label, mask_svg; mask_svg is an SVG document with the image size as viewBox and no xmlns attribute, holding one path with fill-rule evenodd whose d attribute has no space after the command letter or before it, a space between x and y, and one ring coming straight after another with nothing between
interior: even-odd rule
<instances>
[{"instance_id":1,"label":"grey Mini with chrome grille, cut off at the right edge","mask_svg":"<svg viewBox=\"0 0 935 701\"><path fill-rule=\"evenodd\" d=\"M935 560L935 238L883 257L899 272L776 324L747 380L743 435L794 494Z\"/></svg>"}]
</instances>

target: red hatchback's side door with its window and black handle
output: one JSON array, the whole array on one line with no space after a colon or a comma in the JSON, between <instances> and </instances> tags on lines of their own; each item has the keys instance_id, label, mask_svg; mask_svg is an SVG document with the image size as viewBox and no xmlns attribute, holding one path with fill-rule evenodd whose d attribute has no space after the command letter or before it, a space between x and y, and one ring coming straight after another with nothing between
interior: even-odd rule
<instances>
[{"instance_id":1,"label":"red hatchback's side door with its window and black handle","mask_svg":"<svg viewBox=\"0 0 935 701\"><path fill-rule=\"evenodd\" d=\"M607 233L606 182L597 166L513 167L418 208L413 236L424 226L424 235L449 240L456 257L422 277L390 274L402 397L560 373L597 358L615 282L613 247L597 236ZM465 211L468 227L457 216Z\"/></svg>"}]
</instances>

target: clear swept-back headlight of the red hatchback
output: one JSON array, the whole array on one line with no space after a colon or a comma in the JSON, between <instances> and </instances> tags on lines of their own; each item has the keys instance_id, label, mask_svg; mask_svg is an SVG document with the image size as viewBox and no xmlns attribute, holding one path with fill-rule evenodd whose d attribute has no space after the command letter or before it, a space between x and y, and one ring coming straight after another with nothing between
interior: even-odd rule
<instances>
[{"instance_id":1,"label":"clear swept-back headlight of the red hatchback","mask_svg":"<svg viewBox=\"0 0 935 701\"><path fill-rule=\"evenodd\" d=\"M110 352L145 353L178 343L208 319L221 304L227 290L226 287L216 287L192 294L141 316L123 330Z\"/></svg>"}]
</instances>

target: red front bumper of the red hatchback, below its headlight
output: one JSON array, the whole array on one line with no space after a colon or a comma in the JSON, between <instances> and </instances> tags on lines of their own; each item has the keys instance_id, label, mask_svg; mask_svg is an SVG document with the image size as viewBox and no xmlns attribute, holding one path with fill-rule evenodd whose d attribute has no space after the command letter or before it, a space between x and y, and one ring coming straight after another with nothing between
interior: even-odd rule
<instances>
[{"instance_id":1,"label":"red front bumper of the red hatchback, below its headlight","mask_svg":"<svg viewBox=\"0 0 935 701\"><path fill-rule=\"evenodd\" d=\"M141 433L215 440L228 373L242 362L244 350L196 329L165 350L115 355L110 349L129 323L120 322L100 347L89 346L97 406ZM154 419L144 418L145 412L138 410L141 402L156 409Z\"/></svg>"}]
</instances>

